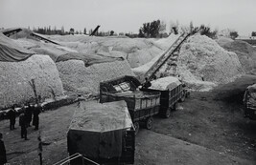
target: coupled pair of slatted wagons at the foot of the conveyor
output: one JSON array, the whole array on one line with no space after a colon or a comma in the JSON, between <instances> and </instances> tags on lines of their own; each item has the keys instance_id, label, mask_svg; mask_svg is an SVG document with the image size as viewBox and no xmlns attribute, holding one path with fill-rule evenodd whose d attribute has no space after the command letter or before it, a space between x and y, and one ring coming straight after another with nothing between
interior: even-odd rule
<instances>
[{"instance_id":1,"label":"coupled pair of slatted wagons at the foot of the conveyor","mask_svg":"<svg viewBox=\"0 0 256 165\"><path fill-rule=\"evenodd\" d=\"M140 125L152 128L155 114L168 118L175 110L178 101L184 101L189 95L184 83L174 76L151 81L150 88L142 88L142 84L133 76L123 76L100 83L100 102L125 100L128 104L135 128L138 133Z\"/></svg>"}]
</instances>

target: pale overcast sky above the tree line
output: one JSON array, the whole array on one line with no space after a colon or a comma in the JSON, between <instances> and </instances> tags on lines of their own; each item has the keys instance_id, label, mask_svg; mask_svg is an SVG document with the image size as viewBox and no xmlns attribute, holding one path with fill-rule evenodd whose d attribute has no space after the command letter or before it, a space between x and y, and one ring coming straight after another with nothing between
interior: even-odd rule
<instances>
[{"instance_id":1,"label":"pale overcast sky above the tree line","mask_svg":"<svg viewBox=\"0 0 256 165\"><path fill-rule=\"evenodd\" d=\"M160 19L240 35L256 31L256 0L0 0L0 28L51 26L65 31L86 28L138 32L145 22Z\"/></svg>"}]
</instances>

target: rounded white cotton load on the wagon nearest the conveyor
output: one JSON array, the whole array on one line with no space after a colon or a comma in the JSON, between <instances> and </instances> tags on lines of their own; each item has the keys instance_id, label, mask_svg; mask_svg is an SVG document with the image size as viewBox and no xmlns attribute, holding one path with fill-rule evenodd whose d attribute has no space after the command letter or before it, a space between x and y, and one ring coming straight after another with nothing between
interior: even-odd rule
<instances>
[{"instance_id":1,"label":"rounded white cotton load on the wagon nearest the conveyor","mask_svg":"<svg viewBox=\"0 0 256 165\"><path fill-rule=\"evenodd\" d=\"M180 84L181 82L178 80L178 78L174 76L167 76L151 81L150 89L159 91L171 91Z\"/></svg>"}]
</instances>

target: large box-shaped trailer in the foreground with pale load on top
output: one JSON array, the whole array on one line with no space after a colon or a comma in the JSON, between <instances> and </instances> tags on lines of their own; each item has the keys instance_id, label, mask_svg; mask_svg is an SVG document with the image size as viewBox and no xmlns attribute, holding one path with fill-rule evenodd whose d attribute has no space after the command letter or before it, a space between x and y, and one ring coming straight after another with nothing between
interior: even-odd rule
<instances>
[{"instance_id":1,"label":"large box-shaped trailer in the foreground with pale load on top","mask_svg":"<svg viewBox=\"0 0 256 165\"><path fill-rule=\"evenodd\" d=\"M135 135L127 103L89 101L79 107L67 134L69 155L79 153L105 164L133 164Z\"/></svg>"}]
</instances>

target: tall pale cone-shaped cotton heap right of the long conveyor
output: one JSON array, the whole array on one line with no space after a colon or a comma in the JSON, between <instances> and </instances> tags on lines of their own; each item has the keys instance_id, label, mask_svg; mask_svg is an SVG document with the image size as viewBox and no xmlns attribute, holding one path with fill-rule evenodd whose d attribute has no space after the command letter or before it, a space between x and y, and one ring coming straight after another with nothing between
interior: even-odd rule
<instances>
[{"instance_id":1,"label":"tall pale cone-shaped cotton heap right of the long conveyor","mask_svg":"<svg viewBox=\"0 0 256 165\"><path fill-rule=\"evenodd\" d=\"M189 84L206 81L214 86L233 81L243 68L236 53L225 51L205 35L194 35L180 49L177 72Z\"/></svg>"}]
</instances>

